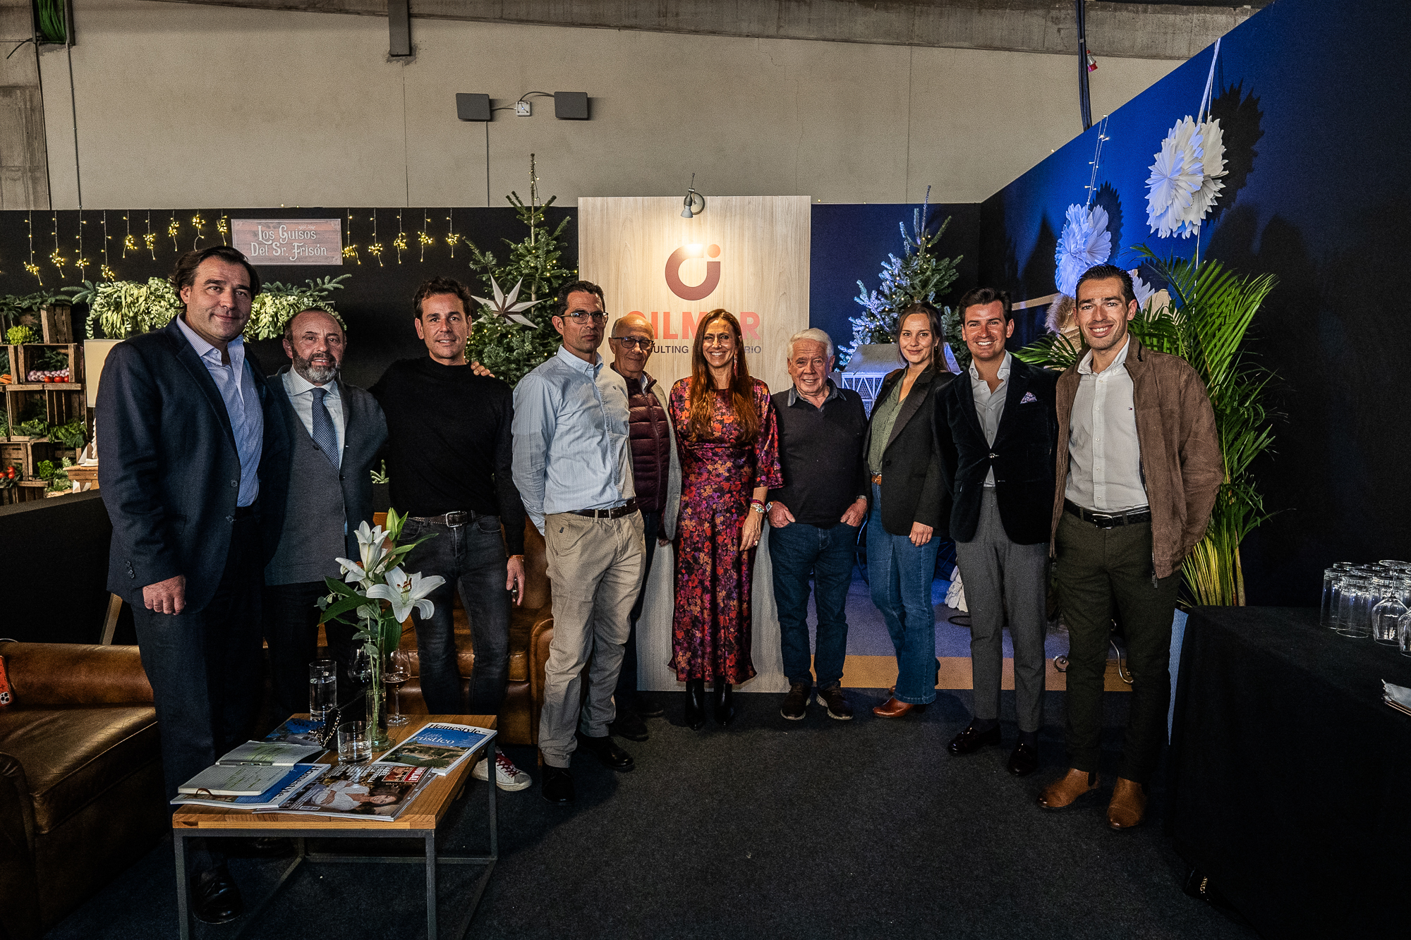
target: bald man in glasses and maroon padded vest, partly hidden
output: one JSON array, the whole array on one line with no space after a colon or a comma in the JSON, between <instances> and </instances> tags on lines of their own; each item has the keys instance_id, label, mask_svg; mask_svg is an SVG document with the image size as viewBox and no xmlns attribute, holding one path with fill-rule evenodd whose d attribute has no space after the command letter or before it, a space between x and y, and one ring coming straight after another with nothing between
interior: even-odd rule
<instances>
[{"instance_id":1,"label":"bald man in glasses and maroon padded vest, partly hidden","mask_svg":"<svg viewBox=\"0 0 1411 940\"><path fill-rule=\"evenodd\" d=\"M636 687L636 621L642 617L646 580L658 545L676 536L676 517L682 511L682 464L676 456L676 432L666 409L667 388L646 374L652 357L652 322L641 313L628 313L612 325L608 346L612 349L612 375L625 387L628 398L628 440L632 449L632 480L636 504L642 511L642 535L646 555L642 563L642 587L632 605L632 632L618 673L617 717L608 731L629 741L646 741L643 717L655 718L662 706L641 694Z\"/></svg>"}]
</instances>

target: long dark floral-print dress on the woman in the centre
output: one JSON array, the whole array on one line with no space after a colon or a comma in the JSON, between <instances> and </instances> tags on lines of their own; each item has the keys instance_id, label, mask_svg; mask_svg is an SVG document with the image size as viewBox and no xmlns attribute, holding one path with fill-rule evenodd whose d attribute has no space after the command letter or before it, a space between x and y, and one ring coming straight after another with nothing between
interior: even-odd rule
<instances>
[{"instance_id":1,"label":"long dark floral-print dress on the woman in the centre","mask_svg":"<svg viewBox=\"0 0 1411 940\"><path fill-rule=\"evenodd\" d=\"M779 428L769 387L753 380L759 438L742 430L715 394L710 435L687 439L690 378L672 385L670 414L682 459L682 514L676 525L676 614L672 669L676 677L739 683L755 675L749 658L749 582L755 549L739 550L739 531L756 487L783 486Z\"/></svg>"}]
</instances>

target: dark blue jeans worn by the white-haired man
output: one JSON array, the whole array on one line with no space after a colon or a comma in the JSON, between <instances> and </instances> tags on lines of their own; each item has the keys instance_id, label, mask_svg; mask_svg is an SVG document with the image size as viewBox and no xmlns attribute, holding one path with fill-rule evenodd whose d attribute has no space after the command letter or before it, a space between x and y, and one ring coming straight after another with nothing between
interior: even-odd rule
<instances>
[{"instance_id":1,"label":"dark blue jeans worn by the white-haired man","mask_svg":"<svg viewBox=\"0 0 1411 940\"><path fill-rule=\"evenodd\" d=\"M790 685L830 689L842 683L848 655L848 617L844 604L852 583L858 526L838 522L830 528L790 522L769 529L769 559L775 569L775 605L785 675ZM814 579L818 610L818 651L809 670L809 576Z\"/></svg>"}]
</instances>

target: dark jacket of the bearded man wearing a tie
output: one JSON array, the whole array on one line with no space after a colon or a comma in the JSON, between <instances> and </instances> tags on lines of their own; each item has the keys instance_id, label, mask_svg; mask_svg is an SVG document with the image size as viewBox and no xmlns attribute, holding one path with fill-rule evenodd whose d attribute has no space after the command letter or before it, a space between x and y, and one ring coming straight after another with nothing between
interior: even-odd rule
<instances>
[{"instance_id":1,"label":"dark jacket of the bearded man wearing a tie","mask_svg":"<svg viewBox=\"0 0 1411 940\"><path fill-rule=\"evenodd\" d=\"M284 387L284 375L289 371L285 366L270 377L270 388L274 391L279 405L279 419L284 422L284 433L292 447L303 440L308 442L309 432L293 411L288 391ZM357 526L361 522L373 524L373 463L377 454L387 445L387 419L382 408L373 398L371 392L347 385L337 380L339 398L343 401L343 462L339 464L339 481L343 488L343 508L347 522L344 550L347 558L358 558ZM268 494L260 491L260 525L265 534L265 543L270 553L279 553L278 546L284 536L284 524L289 512L289 490L292 480L289 474L279 480L270 481ZM268 497L268 498L267 498ZM330 521L332 522L332 521Z\"/></svg>"}]
</instances>

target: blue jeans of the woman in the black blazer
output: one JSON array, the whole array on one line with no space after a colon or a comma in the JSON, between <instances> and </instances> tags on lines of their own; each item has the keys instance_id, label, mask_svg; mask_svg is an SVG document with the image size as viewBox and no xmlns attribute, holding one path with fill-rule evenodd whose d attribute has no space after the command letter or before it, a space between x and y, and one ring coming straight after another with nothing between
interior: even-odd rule
<instances>
[{"instance_id":1,"label":"blue jeans of the woman in the black blazer","mask_svg":"<svg viewBox=\"0 0 1411 940\"><path fill-rule=\"evenodd\" d=\"M940 541L917 548L904 535L882 528L882 487L872 484L868 517L868 582L872 603L882 611L896 649L896 700L930 704L935 700L935 552Z\"/></svg>"}]
</instances>

